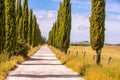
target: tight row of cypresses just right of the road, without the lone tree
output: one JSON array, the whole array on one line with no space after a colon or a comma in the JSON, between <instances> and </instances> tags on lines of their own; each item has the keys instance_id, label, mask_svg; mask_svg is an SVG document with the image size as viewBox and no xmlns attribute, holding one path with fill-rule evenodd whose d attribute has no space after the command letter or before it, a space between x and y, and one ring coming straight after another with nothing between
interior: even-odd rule
<instances>
[{"instance_id":1,"label":"tight row of cypresses just right of the road, without the lone tree","mask_svg":"<svg viewBox=\"0 0 120 80\"><path fill-rule=\"evenodd\" d=\"M48 44L67 52L70 45L71 32L71 3L63 0L60 3L57 20L49 32Z\"/></svg>"}]
</instances>

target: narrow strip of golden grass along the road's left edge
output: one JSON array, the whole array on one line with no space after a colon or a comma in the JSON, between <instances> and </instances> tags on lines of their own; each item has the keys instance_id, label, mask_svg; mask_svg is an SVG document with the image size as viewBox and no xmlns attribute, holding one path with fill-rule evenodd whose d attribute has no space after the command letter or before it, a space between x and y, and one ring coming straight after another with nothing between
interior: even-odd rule
<instances>
[{"instance_id":1,"label":"narrow strip of golden grass along the road's left edge","mask_svg":"<svg viewBox=\"0 0 120 80\"><path fill-rule=\"evenodd\" d=\"M37 46L35 48L32 48L28 51L28 57L33 55L40 46ZM5 55L4 55L5 56ZM7 76L8 72L11 70L14 70L18 64L24 62L27 58L23 56L13 56L11 57L10 61L5 61L0 63L0 80L5 80L5 77Z\"/></svg>"}]
</instances>

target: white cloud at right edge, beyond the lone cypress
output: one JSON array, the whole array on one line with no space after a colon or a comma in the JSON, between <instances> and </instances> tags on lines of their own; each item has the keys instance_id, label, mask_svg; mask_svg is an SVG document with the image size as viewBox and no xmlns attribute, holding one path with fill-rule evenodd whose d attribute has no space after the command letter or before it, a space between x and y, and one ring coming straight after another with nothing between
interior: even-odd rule
<instances>
[{"instance_id":1,"label":"white cloud at right edge, beyond the lone cypress","mask_svg":"<svg viewBox=\"0 0 120 80\"><path fill-rule=\"evenodd\" d=\"M120 43L120 22L114 20L106 20L106 38L107 43Z\"/></svg>"}]
</instances>

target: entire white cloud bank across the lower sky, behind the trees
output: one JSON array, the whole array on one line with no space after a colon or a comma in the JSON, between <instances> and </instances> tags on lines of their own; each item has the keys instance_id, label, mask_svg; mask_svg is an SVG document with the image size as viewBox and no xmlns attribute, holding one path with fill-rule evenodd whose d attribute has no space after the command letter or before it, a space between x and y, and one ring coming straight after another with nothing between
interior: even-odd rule
<instances>
[{"instance_id":1,"label":"entire white cloud bank across the lower sky, behind the trees","mask_svg":"<svg viewBox=\"0 0 120 80\"><path fill-rule=\"evenodd\" d=\"M48 37L48 33L56 20L57 11L35 11L42 35ZM120 22L106 20L106 39L107 43L120 43ZM89 41L89 17L79 14L72 15L71 42Z\"/></svg>"}]
</instances>

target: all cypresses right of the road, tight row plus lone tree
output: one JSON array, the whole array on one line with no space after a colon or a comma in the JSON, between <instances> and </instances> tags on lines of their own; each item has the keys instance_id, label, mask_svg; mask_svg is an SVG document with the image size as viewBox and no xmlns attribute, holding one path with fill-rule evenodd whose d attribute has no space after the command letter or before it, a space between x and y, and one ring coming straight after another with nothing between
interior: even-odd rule
<instances>
[{"instance_id":1,"label":"all cypresses right of the road, tight row plus lone tree","mask_svg":"<svg viewBox=\"0 0 120 80\"><path fill-rule=\"evenodd\" d=\"M96 51L96 64L100 64L105 38L105 0L91 0L90 45ZM67 52L70 43L70 0L60 3L56 22L49 32L48 44Z\"/></svg>"}]
</instances>

